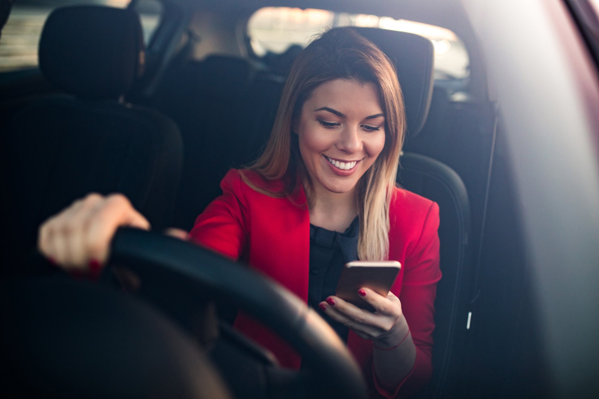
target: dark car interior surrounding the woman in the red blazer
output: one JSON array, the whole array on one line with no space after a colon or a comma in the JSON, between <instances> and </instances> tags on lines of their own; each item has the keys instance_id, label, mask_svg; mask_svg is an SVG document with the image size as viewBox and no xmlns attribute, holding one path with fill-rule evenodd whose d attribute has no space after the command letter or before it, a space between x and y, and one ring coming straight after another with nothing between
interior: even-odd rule
<instances>
[{"instance_id":1,"label":"dark car interior surrounding the woman in the red blazer","mask_svg":"<svg viewBox=\"0 0 599 399\"><path fill-rule=\"evenodd\" d=\"M0 74L2 201L11 231L2 266L2 328L10 337L2 383L44 397L364 397L347 353L320 333L322 321L306 322L317 316L295 298L158 234L189 230L220 194L226 171L264 148L301 50L253 52L250 16L276 6L413 20L461 38L470 62L468 75L456 78L435 72L428 38L356 27L394 62L403 90L407 138L397 183L440 206L433 376L417 396L547 395L506 138L484 44L457 3L162 0L147 44L143 3L57 8L44 23L39 68ZM101 284L60 275L34 250L40 223L88 192L122 192L154 231L119 232L114 271ZM205 267L194 267L199 261ZM123 273L141 277L128 290L135 295L106 288ZM236 283L225 286L226 276ZM247 285L264 287L262 295ZM74 307L73 298L85 300ZM237 309L288 339L305 370L276 367L270 353L235 333ZM117 325L125 327L102 327ZM77 341L73 328L102 344ZM54 344L22 331L49 331ZM139 345L126 344L139 336ZM319 377L331 368L330 380Z\"/></svg>"}]
</instances>

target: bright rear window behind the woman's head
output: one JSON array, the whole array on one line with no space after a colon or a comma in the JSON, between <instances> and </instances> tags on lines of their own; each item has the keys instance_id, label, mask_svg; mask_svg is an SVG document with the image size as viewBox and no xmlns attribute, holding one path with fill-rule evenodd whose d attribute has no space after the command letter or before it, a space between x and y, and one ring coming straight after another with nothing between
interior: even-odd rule
<instances>
[{"instance_id":1,"label":"bright rear window behind the woman's head","mask_svg":"<svg viewBox=\"0 0 599 399\"><path fill-rule=\"evenodd\" d=\"M468 77L469 59L464 43L449 29L426 23L310 8L265 7L250 17L247 32L252 51L264 56L269 52L283 53L293 44L305 47L314 35L337 26L368 26L423 36L435 48L435 79Z\"/></svg>"}]
</instances>

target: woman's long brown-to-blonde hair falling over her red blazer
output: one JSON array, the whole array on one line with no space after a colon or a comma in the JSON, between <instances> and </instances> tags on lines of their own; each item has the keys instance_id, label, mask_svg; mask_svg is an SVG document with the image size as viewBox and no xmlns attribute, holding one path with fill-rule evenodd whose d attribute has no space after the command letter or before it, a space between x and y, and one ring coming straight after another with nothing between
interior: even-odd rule
<instances>
[{"instance_id":1,"label":"woman's long brown-to-blonde hair falling over her red blazer","mask_svg":"<svg viewBox=\"0 0 599 399\"><path fill-rule=\"evenodd\" d=\"M385 147L358 182L356 208L360 221L358 257L372 261L388 259L389 204L395 192L406 129L404 103L397 72L389 58L354 29L336 28L320 35L299 54L289 72L270 140L264 153L249 167L264 180L282 179L283 190L269 191L256 186L243 172L241 176L262 194L294 197L302 180L309 182L310 179L299 154L297 135L292 134L292 125L314 89L339 78L360 84L374 83L385 112Z\"/></svg>"}]
</instances>

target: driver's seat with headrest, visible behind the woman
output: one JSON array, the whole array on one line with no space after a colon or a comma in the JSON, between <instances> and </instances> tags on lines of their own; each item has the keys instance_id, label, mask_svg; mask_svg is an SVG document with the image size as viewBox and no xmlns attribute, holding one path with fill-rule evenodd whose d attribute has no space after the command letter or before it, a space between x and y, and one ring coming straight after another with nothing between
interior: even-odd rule
<instances>
[{"instance_id":1,"label":"driver's seat with headrest, visible behind the woman","mask_svg":"<svg viewBox=\"0 0 599 399\"><path fill-rule=\"evenodd\" d=\"M434 50L431 41L407 32L378 28L356 31L379 46L394 62L406 104L407 140L423 128L433 90ZM470 204L464 182L452 168L428 156L403 153L397 182L439 205L443 278L437 285L432 350L433 375L420 397L451 397L452 376L459 373L467 325L470 275Z\"/></svg>"}]
</instances>

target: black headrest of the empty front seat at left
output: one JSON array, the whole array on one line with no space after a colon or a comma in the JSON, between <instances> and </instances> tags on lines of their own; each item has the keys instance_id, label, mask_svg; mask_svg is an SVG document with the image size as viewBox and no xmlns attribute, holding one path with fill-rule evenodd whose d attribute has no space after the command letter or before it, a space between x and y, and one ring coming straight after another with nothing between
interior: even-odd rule
<instances>
[{"instance_id":1,"label":"black headrest of the empty front seat at left","mask_svg":"<svg viewBox=\"0 0 599 399\"><path fill-rule=\"evenodd\" d=\"M41 35L40 69L66 92L116 99L137 77L143 46L134 11L90 5L58 8Z\"/></svg>"}]
</instances>

